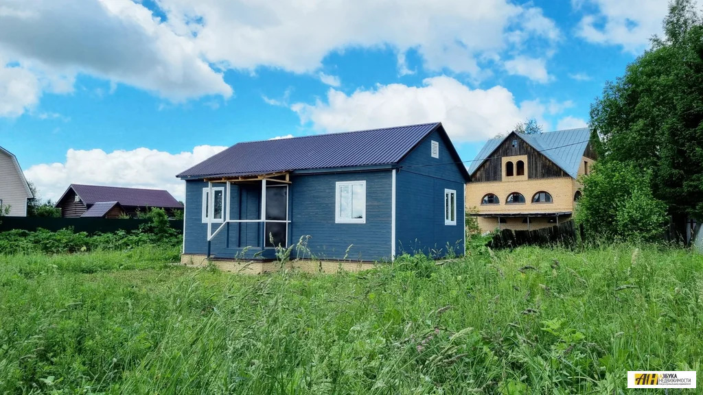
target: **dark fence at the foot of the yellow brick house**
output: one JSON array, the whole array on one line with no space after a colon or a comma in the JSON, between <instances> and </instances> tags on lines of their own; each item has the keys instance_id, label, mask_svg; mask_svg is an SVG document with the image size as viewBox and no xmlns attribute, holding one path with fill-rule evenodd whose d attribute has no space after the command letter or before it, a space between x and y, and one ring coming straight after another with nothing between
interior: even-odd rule
<instances>
[{"instance_id":1,"label":"dark fence at the foot of the yellow brick house","mask_svg":"<svg viewBox=\"0 0 703 395\"><path fill-rule=\"evenodd\" d=\"M510 248L520 245L571 245L576 242L576 225L574 220L549 228L534 231L512 231L503 229L498 231L489 242L491 248Z\"/></svg>"}]
</instances>

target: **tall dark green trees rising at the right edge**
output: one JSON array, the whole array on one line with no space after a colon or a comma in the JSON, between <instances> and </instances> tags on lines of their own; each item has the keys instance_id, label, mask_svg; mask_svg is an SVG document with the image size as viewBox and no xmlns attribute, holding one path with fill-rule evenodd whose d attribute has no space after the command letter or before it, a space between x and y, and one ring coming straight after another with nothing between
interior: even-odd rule
<instances>
[{"instance_id":1,"label":"tall dark green trees rising at the right edge","mask_svg":"<svg viewBox=\"0 0 703 395\"><path fill-rule=\"evenodd\" d=\"M651 171L669 214L703 217L703 22L691 0L671 1L664 37L607 82L591 127L601 162Z\"/></svg>"}]
</instances>

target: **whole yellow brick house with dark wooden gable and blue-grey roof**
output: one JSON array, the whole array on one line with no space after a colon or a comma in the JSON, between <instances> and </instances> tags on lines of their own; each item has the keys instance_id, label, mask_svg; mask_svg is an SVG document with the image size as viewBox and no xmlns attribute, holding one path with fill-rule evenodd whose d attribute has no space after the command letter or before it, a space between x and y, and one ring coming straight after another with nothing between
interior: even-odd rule
<instances>
[{"instance_id":1,"label":"whole yellow brick house with dark wooden gable and blue-grey roof","mask_svg":"<svg viewBox=\"0 0 703 395\"><path fill-rule=\"evenodd\" d=\"M572 218L578 177L596 157L587 128L543 134L512 132L489 140L469 167L466 207L482 231L534 230Z\"/></svg>"}]
</instances>

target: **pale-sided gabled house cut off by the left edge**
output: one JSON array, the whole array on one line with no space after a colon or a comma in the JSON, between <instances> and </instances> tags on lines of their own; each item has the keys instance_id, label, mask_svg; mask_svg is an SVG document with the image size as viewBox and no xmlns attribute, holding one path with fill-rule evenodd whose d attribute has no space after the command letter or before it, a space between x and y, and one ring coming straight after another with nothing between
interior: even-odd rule
<instances>
[{"instance_id":1,"label":"pale-sided gabled house cut off by the left edge","mask_svg":"<svg viewBox=\"0 0 703 395\"><path fill-rule=\"evenodd\" d=\"M17 157L0 147L0 209L9 206L8 216L27 216L27 199L32 198Z\"/></svg>"}]
</instances>

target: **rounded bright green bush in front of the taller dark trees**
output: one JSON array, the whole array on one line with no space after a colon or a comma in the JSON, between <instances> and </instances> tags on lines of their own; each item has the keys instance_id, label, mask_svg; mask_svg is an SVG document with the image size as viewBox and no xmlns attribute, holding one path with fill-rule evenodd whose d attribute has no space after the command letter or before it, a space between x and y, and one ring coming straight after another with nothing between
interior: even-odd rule
<instances>
[{"instance_id":1,"label":"rounded bright green bush in front of the taller dark trees","mask_svg":"<svg viewBox=\"0 0 703 395\"><path fill-rule=\"evenodd\" d=\"M598 162L583 178L576 221L589 235L610 240L661 240L666 205L652 196L651 172L633 164Z\"/></svg>"}]
</instances>

